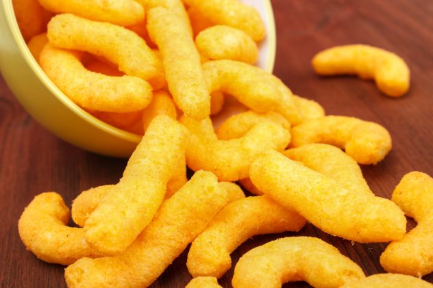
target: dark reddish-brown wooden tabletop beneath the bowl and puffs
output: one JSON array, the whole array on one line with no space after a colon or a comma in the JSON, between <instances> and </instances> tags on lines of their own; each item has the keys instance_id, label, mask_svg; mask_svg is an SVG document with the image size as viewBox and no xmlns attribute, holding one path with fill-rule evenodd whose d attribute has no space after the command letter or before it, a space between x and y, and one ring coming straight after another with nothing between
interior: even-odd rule
<instances>
[{"instance_id":1,"label":"dark reddish-brown wooden tabletop beneath the bowl and puffs","mask_svg":"<svg viewBox=\"0 0 433 288\"><path fill-rule=\"evenodd\" d=\"M319 101L327 114L372 120L393 136L391 154L377 166L362 168L373 192L391 196L401 176L412 170L433 175L433 1L274 0L273 8L275 75L296 94ZM403 57L412 73L410 92L391 99L380 94L372 81L314 75L310 67L314 53L351 43L373 44ZM18 218L40 192L59 192L71 203L84 189L116 183L125 163L55 138L26 114L0 79L0 287L65 287L64 267L44 263L25 250L16 228ZM254 237L232 254L233 263L255 246L290 235L294 234ZM366 274L384 272L378 259L386 244L351 245L311 225L298 235L317 236L333 244ZM185 263L186 252L152 287L184 287L190 280ZM233 269L220 280L221 285L230 287L232 274ZM432 274L424 278L433 282Z\"/></svg>"}]
</instances>

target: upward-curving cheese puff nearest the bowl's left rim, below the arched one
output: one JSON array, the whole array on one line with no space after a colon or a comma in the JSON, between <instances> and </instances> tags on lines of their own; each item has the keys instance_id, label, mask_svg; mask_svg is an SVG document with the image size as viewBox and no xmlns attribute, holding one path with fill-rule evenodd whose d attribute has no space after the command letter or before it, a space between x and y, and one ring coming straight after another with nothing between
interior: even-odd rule
<instances>
[{"instance_id":1,"label":"upward-curving cheese puff nearest the bowl's left rim, below the arched one","mask_svg":"<svg viewBox=\"0 0 433 288\"><path fill-rule=\"evenodd\" d=\"M79 62L81 53L45 45L39 62L47 76L77 105L106 112L133 112L149 105L149 83L134 76L94 73Z\"/></svg>"}]
</instances>

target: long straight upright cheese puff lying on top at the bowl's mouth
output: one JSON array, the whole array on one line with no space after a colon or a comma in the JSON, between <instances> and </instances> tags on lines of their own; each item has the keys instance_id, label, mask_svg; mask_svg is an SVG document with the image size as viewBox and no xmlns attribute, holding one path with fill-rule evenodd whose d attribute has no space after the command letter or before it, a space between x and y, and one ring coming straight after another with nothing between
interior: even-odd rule
<instances>
[{"instance_id":1,"label":"long straight upright cheese puff lying on top at the bowl's mouth","mask_svg":"<svg viewBox=\"0 0 433 288\"><path fill-rule=\"evenodd\" d=\"M180 16L166 8L148 12L147 29L162 54L169 90L186 116L210 115L210 94L192 34Z\"/></svg>"}]
</instances>

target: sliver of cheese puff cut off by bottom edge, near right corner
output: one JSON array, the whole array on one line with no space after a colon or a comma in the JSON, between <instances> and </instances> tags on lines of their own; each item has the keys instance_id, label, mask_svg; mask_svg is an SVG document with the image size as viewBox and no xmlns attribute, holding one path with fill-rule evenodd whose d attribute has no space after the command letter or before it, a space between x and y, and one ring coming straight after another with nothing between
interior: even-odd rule
<instances>
[{"instance_id":1,"label":"sliver of cheese puff cut off by bottom edge, near right corner","mask_svg":"<svg viewBox=\"0 0 433 288\"><path fill-rule=\"evenodd\" d=\"M420 278L402 274L375 274L349 282L341 288L433 288Z\"/></svg>"}]
</instances>

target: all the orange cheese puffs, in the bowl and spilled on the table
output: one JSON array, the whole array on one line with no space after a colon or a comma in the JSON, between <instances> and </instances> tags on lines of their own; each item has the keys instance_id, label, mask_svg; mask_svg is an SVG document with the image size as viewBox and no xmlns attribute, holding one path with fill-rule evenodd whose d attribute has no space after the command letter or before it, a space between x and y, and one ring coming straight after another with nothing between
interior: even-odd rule
<instances>
[{"instance_id":1,"label":"all the orange cheese puffs, in the bowl and spilled on the table","mask_svg":"<svg viewBox=\"0 0 433 288\"><path fill-rule=\"evenodd\" d=\"M82 192L71 213L60 194L45 192L21 215L26 248L67 265L68 287L148 287L188 245L187 287L220 287L240 244L307 221L343 239L389 242L380 257L389 273L366 277L319 238L284 237L245 253L233 287L433 287L421 280L433 272L433 179L410 172L391 200L375 196L359 164L382 161L391 135L374 122L327 116L253 66L266 37L254 8L238 0L13 2L51 81L95 117L143 135L116 185ZM312 65L319 75L374 79L387 96L409 89L404 60L376 47L330 48ZM214 129L211 116L233 99L243 112ZM70 214L79 228L67 226ZM408 233L406 216L418 223Z\"/></svg>"}]
</instances>

